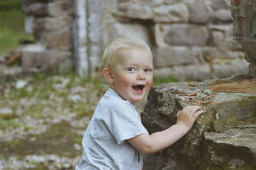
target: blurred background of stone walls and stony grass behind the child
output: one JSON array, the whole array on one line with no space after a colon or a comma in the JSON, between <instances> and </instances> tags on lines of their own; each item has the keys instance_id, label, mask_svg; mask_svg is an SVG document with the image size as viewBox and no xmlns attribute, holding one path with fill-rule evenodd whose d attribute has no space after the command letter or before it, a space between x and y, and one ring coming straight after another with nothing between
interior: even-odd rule
<instances>
[{"instance_id":1,"label":"blurred background of stone walls and stony grass behind the child","mask_svg":"<svg viewBox=\"0 0 256 170\"><path fill-rule=\"evenodd\" d=\"M0 20L0 169L74 169L115 38L150 45L153 86L248 72L229 0L1 0Z\"/></svg>"}]
</instances>

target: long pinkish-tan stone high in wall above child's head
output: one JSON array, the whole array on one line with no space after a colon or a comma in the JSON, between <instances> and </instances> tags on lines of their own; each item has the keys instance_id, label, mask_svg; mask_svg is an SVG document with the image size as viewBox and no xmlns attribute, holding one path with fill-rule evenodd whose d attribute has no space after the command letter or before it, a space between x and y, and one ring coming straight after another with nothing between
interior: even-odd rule
<instances>
[{"instance_id":1,"label":"long pinkish-tan stone high in wall above child's head","mask_svg":"<svg viewBox=\"0 0 256 170\"><path fill-rule=\"evenodd\" d=\"M148 6L140 6L138 4L120 4L118 16L129 17L132 19L152 19L152 9Z\"/></svg>"}]
</instances>

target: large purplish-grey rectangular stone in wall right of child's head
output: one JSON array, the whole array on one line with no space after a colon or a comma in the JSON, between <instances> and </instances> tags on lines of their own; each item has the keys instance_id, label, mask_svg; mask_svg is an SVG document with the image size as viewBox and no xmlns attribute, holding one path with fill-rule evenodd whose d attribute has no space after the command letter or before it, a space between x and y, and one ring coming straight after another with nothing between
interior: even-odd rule
<instances>
[{"instance_id":1,"label":"large purplish-grey rectangular stone in wall right of child's head","mask_svg":"<svg viewBox=\"0 0 256 170\"><path fill-rule=\"evenodd\" d=\"M208 37L207 28L204 26L173 24L168 27L164 40L170 45L204 46Z\"/></svg>"}]
</instances>

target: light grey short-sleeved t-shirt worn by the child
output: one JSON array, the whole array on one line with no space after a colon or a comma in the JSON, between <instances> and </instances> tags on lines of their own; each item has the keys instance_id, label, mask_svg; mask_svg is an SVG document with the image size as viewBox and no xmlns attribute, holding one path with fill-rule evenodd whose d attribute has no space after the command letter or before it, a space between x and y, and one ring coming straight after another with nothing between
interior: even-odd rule
<instances>
[{"instance_id":1,"label":"light grey short-sleeved t-shirt worn by the child","mask_svg":"<svg viewBox=\"0 0 256 170\"><path fill-rule=\"evenodd\" d=\"M143 154L127 139L148 134L131 102L109 88L100 100L83 137L79 169L139 170Z\"/></svg>"}]
</instances>

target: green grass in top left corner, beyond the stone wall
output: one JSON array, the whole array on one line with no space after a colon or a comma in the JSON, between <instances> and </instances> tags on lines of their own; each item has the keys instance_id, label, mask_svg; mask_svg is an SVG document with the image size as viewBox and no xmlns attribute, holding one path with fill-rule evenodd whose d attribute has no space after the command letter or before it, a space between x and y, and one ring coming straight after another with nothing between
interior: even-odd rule
<instances>
[{"instance_id":1,"label":"green grass in top left corner, beyond the stone wall","mask_svg":"<svg viewBox=\"0 0 256 170\"><path fill-rule=\"evenodd\" d=\"M19 40L33 40L24 30L24 14L20 10L20 0L0 1L0 54L19 47Z\"/></svg>"}]
</instances>

